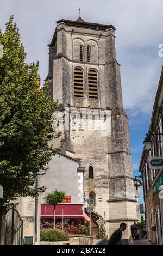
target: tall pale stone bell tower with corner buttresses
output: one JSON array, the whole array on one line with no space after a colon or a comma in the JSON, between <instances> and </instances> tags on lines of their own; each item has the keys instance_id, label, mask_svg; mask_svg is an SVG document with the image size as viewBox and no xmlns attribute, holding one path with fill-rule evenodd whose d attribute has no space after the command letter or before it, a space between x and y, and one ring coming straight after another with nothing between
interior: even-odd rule
<instances>
[{"instance_id":1,"label":"tall pale stone bell tower with corner buttresses","mask_svg":"<svg viewBox=\"0 0 163 256\"><path fill-rule=\"evenodd\" d=\"M115 28L62 19L48 46L51 94L58 111L67 111L60 126L64 153L82 159L84 192L93 211L105 216L107 234L126 222L128 238L137 215Z\"/></svg>"}]
</instances>

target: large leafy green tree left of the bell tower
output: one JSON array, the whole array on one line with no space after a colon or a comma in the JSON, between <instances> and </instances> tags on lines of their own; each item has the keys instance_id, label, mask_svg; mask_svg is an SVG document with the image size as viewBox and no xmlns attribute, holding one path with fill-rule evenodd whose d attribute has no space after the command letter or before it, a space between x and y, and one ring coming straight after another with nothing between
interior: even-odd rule
<instances>
[{"instance_id":1,"label":"large leafy green tree left of the bell tower","mask_svg":"<svg viewBox=\"0 0 163 256\"><path fill-rule=\"evenodd\" d=\"M7 206L18 196L36 196L45 187L34 187L36 176L57 149L48 141L58 137L52 128L56 109L49 96L48 82L39 88L39 63L27 64L26 53L13 16L0 31L3 56L0 58L0 184Z\"/></svg>"}]
</instances>

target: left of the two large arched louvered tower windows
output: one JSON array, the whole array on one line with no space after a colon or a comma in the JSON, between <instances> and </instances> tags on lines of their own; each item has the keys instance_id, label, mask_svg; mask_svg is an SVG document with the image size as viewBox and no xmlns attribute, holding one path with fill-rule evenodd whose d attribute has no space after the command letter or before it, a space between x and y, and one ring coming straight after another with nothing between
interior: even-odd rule
<instances>
[{"instance_id":1,"label":"left of the two large arched louvered tower windows","mask_svg":"<svg viewBox=\"0 0 163 256\"><path fill-rule=\"evenodd\" d=\"M74 83L74 96L75 97L84 97L82 69L79 69L79 68L74 69L73 83Z\"/></svg>"}]
</instances>

